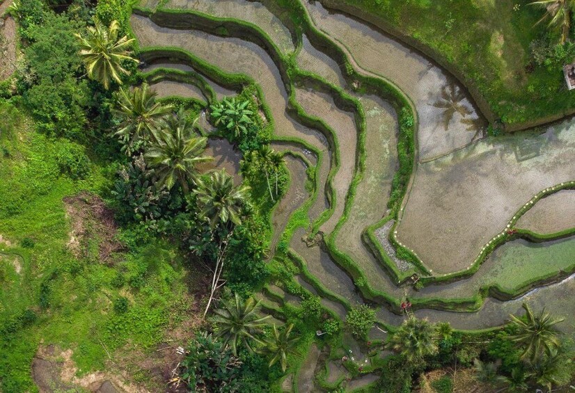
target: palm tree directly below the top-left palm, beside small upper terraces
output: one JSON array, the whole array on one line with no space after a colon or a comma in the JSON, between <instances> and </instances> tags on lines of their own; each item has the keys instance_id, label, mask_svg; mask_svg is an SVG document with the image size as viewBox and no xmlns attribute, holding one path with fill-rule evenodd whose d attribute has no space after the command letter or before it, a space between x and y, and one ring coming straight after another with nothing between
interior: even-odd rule
<instances>
[{"instance_id":1,"label":"palm tree directly below the top-left palm, beside small upper terraces","mask_svg":"<svg viewBox=\"0 0 575 393\"><path fill-rule=\"evenodd\" d=\"M112 111L120 119L115 135L120 137L122 148L129 155L154 138L159 122L173 107L156 102L157 93L150 89L148 83L132 90L120 88L115 96L116 104Z\"/></svg>"}]
</instances>

